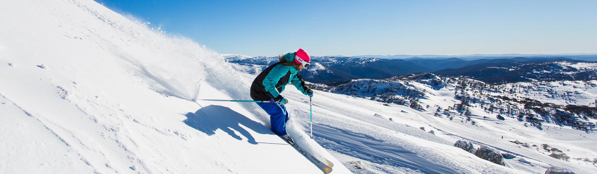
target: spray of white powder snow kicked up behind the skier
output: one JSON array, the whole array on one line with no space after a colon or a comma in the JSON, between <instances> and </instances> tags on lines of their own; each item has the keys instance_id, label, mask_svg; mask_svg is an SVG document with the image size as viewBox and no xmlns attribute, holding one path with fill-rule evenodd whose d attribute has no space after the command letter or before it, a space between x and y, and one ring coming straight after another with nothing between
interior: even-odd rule
<instances>
[{"instance_id":1,"label":"spray of white powder snow kicked up behind the skier","mask_svg":"<svg viewBox=\"0 0 597 174\"><path fill-rule=\"evenodd\" d=\"M168 36L159 30L151 29L139 20L130 21L121 16L110 16L81 2L72 0L69 2L128 36L128 40L110 40L113 44L110 49L118 50L116 56L136 65L139 75L149 77L147 79L152 81L145 83L149 83L152 90L192 101L201 98L199 96L201 84L207 81L231 96L238 97L237 100L248 99L247 90L244 90L248 89L248 86L244 85L247 83L230 78L238 77L237 72L230 65L225 64L222 56L204 45L184 37ZM112 31L99 32L96 34L104 38L106 38L105 34L112 33ZM124 43L123 45L123 42L138 44ZM134 48L135 46L137 48ZM148 48L150 51L147 51Z\"/></svg>"}]
</instances>

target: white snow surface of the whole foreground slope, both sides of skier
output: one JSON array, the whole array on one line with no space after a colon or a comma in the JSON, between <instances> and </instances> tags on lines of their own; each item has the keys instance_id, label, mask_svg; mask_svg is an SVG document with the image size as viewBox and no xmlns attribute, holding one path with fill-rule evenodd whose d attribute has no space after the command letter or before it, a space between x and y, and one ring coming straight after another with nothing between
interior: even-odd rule
<instances>
[{"instance_id":1,"label":"white snow surface of the whole foreground slope, both sides of skier","mask_svg":"<svg viewBox=\"0 0 597 174\"><path fill-rule=\"evenodd\" d=\"M193 102L250 100L254 75L205 46L165 36L94 1L0 1L0 21L0 173L321 173L269 130L256 105ZM336 164L332 173L595 170L539 156L490 128L322 91L313 97L311 140L308 98L292 86L284 96L288 132ZM595 142L593 134L569 131ZM509 160L504 167L479 159L452 146L460 138L527 163ZM586 150L589 142L576 147Z\"/></svg>"}]
</instances>

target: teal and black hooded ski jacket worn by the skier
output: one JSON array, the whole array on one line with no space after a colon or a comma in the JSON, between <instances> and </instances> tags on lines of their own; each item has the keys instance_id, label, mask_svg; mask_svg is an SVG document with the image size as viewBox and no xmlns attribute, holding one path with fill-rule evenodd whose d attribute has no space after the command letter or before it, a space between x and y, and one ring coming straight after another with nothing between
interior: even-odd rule
<instances>
[{"instance_id":1,"label":"teal and black hooded ski jacket worn by the skier","mask_svg":"<svg viewBox=\"0 0 597 174\"><path fill-rule=\"evenodd\" d=\"M287 53L282 58L286 62L293 62L296 52ZM309 88L305 85L303 77L293 66L282 65L277 62L264 69L251 84L251 99L253 100L279 100L280 93L287 84L293 83L303 94L307 95Z\"/></svg>"}]
</instances>

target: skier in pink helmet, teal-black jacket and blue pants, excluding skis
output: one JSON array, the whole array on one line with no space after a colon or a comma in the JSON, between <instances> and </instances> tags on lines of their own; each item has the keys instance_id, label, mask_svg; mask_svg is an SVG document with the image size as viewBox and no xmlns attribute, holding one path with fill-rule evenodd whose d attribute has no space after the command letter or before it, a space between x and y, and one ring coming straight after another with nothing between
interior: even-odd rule
<instances>
[{"instance_id":1,"label":"skier in pink helmet, teal-black jacket and blue pants, excluding skis","mask_svg":"<svg viewBox=\"0 0 597 174\"><path fill-rule=\"evenodd\" d=\"M257 103L257 105L270 115L273 133L293 146L295 146L294 140L286 132L288 112L284 105L288 103L288 100L280 93L284 91L288 83L293 83L293 86L303 94L313 97L313 90L305 85L303 77L298 74L303 68L309 67L310 61L309 54L303 49L286 53L279 56L279 62L270 65L257 75L251 84L251 99L275 101Z\"/></svg>"}]
</instances>

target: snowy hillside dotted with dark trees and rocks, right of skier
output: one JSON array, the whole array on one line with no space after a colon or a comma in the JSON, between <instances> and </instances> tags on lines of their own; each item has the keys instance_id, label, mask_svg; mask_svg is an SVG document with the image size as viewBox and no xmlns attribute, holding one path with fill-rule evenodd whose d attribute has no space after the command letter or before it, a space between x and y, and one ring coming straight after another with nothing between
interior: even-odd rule
<instances>
[{"instance_id":1,"label":"snowy hillside dotted with dark trees and rocks, right of skier","mask_svg":"<svg viewBox=\"0 0 597 174\"><path fill-rule=\"evenodd\" d=\"M456 81L459 80L456 79ZM523 109L524 104L509 103L504 100L494 100L489 103L488 101L491 100L485 98L486 95L505 96L510 97L510 99L522 96L546 103L594 105L591 101L595 100L592 91L597 88L595 86L596 81L515 83L491 88L482 86L485 88L482 94L475 89L480 87L476 85L484 83L465 80L464 84L469 87L461 91L459 90L461 88L460 83L457 84L456 81L450 78L439 78L432 74L420 74L383 80L353 80L347 84L327 88L330 88L334 93L349 94L387 103L402 103L401 105L407 106L413 102L413 100L409 101L407 97L415 97L421 105L420 109L407 107L404 109L404 113L389 113L390 115L399 115L396 117L389 116L389 118L416 127L422 126L427 130L431 128L439 137L451 140L451 142L465 139L478 145L484 144L496 147L503 153L524 157L530 163L510 162L513 167L519 170L543 173L545 167L537 166L549 165L566 167L580 173L587 173L587 171L595 169L594 162L596 161L595 157L597 157L597 154L595 154L597 149L592 145L592 142L597 140L597 136L590 133L593 132L594 128L584 132L553 120L543 120L541 121L542 126L532 126L528 120L524 121L523 119L516 119L516 117L509 118L509 116L516 116L518 113L529 112L530 109ZM470 103L470 115L463 115L449 109L460 103L460 100L457 100L457 93L458 96L470 96L473 97L470 100L477 100L475 103ZM481 103L484 103L484 105ZM394 105L388 106L393 107ZM490 106L497 107L491 111L487 110ZM500 108L510 108L510 106L513 106L512 109L499 110ZM441 112L442 109L449 110ZM387 117L387 114L384 113L378 113L378 115ZM502 115L505 119L503 121L496 119L496 115ZM592 123L597 120L594 118L587 118L586 120L578 118L578 121ZM502 136L503 139L501 139ZM523 147L522 144L511 142L516 140L523 144L527 143L529 147ZM541 144L559 148L572 159L565 161L552 158L548 156L551 154L549 151L541 148Z\"/></svg>"}]
</instances>

